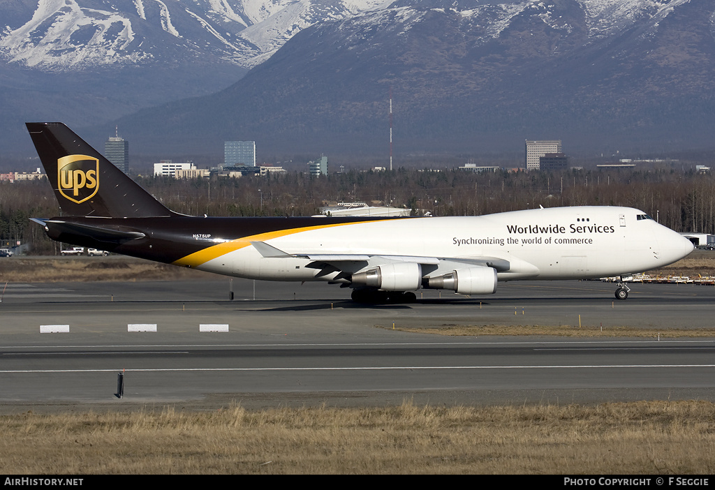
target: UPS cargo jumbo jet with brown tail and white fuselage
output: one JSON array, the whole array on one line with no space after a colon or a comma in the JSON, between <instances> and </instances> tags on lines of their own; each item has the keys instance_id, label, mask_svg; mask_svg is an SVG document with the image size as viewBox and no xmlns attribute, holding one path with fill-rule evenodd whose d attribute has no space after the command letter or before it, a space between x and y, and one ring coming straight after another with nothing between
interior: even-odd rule
<instances>
[{"instance_id":1,"label":"UPS cargo jumbo jet with brown tail and white fuselage","mask_svg":"<svg viewBox=\"0 0 715 490\"><path fill-rule=\"evenodd\" d=\"M445 217L209 217L167 209L62 123L26 123L62 216L56 241L226 276L326 281L354 301L414 291L493 294L499 281L619 277L687 256L691 241L644 211L572 206Z\"/></svg>"}]
</instances>

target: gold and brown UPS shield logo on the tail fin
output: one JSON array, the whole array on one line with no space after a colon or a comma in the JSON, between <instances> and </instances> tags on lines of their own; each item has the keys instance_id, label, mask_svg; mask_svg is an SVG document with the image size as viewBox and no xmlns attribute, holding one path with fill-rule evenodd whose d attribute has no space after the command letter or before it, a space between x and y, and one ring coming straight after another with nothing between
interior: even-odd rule
<instances>
[{"instance_id":1,"label":"gold and brown UPS shield logo on the tail fin","mask_svg":"<svg viewBox=\"0 0 715 490\"><path fill-rule=\"evenodd\" d=\"M81 204L99 189L99 159L87 155L68 155L57 159L59 194Z\"/></svg>"}]
</instances>

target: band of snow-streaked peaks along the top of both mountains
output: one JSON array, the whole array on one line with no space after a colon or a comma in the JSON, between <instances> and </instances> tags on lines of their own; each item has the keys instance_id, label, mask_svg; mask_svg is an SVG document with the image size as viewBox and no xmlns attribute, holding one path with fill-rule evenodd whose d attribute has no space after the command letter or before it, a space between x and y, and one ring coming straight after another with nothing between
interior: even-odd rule
<instances>
[{"instance_id":1,"label":"band of snow-streaked peaks along the top of both mountains","mask_svg":"<svg viewBox=\"0 0 715 490\"><path fill-rule=\"evenodd\" d=\"M573 1L583 10L589 39L596 41L644 19L655 31L690 0ZM314 24L355 19L346 29L371 24L406 32L426 12L437 11L460 16L483 33L475 42L485 42L501 36L518 16L538 16L552 29L571 31L558 14L562 7L549 0L38 0L31 19L7 21L0 56L55 71L159 63L162 56L172 56L165 60L172 62L182 54L187 59L211 54L250 68ZM361 39L357 31L347 35Z\"/></svg>"}]
</instances>

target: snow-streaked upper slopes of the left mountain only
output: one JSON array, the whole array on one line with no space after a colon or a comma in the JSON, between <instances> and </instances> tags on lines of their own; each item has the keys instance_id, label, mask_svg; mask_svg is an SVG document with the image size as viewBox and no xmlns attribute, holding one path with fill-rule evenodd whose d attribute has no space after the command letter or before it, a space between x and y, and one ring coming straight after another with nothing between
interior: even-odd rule
<instances>
[{"instance_id":1,"label":"snow-streaked upper slopes of the left mountain only","mask_svg":"<svg viewBox=\"0 0 715 490\"><path fill-rule=\"evenodd\" d=\"M385 0L24 0L0 4L0 54L46 71L212 56L250 68L317 22ZM36 8L31 10L35 3ZM31 14L31 15L30 15Z\"/></svg>"}]
</instances>

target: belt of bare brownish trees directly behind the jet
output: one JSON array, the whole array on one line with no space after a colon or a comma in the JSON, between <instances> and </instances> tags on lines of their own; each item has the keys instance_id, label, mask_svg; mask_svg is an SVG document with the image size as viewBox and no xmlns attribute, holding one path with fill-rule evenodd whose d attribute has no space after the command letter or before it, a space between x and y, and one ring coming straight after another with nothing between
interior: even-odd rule
<instances>
[{"instance_id":1,"label":"belt of bare brownish trees directly behind the jet","mask_svg":"<svg viewBox=\"0 0 715 490\"><path fill-rule=\"evenodd\" d=\"M475 216L538 206L631 206L675 231L715 231L715 177L672 168L471 173L458 169L291 172L240 179L137 178L169 209L208 216L310 216L330 201L364 201L413 214ZM0 181L0 241L56 254L31 217L61 214L46 180Z\"/></svg>"}]
</instances>

